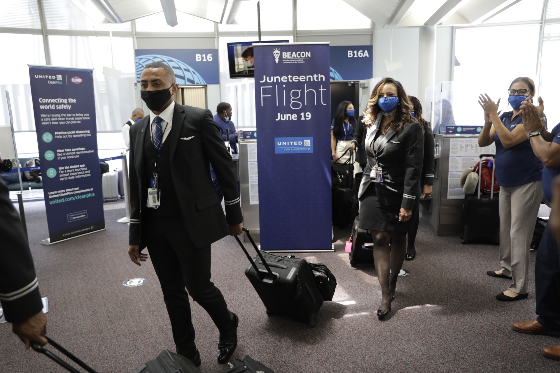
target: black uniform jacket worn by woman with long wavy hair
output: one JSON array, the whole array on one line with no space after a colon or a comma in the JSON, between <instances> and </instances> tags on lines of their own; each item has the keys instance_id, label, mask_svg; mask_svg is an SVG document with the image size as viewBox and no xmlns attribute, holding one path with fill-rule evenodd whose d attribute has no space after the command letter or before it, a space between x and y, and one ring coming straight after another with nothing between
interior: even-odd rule
<instances>
[{"instance_id":1,"label":"black uniform jacket worn by woman with long wavy hair","mask_svg":"<svg viewBox=\"0 0 560 373\"><path fill-rule=\"evenodd\" d=\"M370 144L377 129L370 127L366 134L367 164L363 171L358 198L370 185L371 168L375 166ZM374 183L375 192L382 205L398 205L405 209L414 206L420 187L420 175L424 157L422 126L410 121L400 131L388 131L379 144L377 163L383 171L383 182Z\"/></svg>"}]
</instances>

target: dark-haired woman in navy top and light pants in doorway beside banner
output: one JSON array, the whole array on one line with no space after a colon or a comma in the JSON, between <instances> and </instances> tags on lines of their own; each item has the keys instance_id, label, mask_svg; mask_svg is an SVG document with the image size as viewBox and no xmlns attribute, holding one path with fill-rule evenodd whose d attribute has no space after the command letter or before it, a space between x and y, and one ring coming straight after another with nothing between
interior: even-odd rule
<instances>
[{"instance_id":1,"label":"dark-haired woman in navy top and light pants in doorway beside banner","mask_svg":"<svg viewBox=\"0 0 560 373\"><path fill-rule=\"evenodd\" d=\"M350 147L354 138L354 125L356 125L354 105L350 101L340 102L330 124L330 153L334 162L344 163L350 157L350 152L346 154L344 152ZM355 168L354 172L358 172Z\"/></svg>"}]
</instances>

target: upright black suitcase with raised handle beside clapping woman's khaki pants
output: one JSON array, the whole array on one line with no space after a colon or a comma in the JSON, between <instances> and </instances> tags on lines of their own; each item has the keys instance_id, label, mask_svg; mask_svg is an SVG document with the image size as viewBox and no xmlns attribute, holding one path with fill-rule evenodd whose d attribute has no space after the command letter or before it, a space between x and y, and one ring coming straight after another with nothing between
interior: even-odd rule
<instances>
[{"instance_id":1,"label":"upright black suitcase with raised handle beside clapping woman's khaki pants","mask_svg":"<svg viewBox=\"0 0 560 373\"><path fill-rule=\"evenodd\" d=\"M483 157L492 157L494 154L480 154ZM463 232L461 243L494 243L500 244L500 206L498 198L494 198L494 169L496 162L492 163L492 189L490 195L480 193L482 181L482 166L478 167L478 192L474 195L465 195L463 202Z\"/></svg>"}]
</instances>

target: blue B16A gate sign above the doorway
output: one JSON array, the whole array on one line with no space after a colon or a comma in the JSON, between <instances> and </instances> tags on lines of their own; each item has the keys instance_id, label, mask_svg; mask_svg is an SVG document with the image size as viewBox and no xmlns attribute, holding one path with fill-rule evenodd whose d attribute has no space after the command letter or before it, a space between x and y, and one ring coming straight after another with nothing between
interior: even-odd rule
<instances>
[{"instance_id":1,"label":"blue B16A gate sign above the doorway","mask_svg":"<svg viewBox=\"0 0 560 373\"><path fill-rule=\"evenodd\" d=\"M374 46L330 47L330 80L359 81L374 77Z\"/></svg>"}]
</instances>

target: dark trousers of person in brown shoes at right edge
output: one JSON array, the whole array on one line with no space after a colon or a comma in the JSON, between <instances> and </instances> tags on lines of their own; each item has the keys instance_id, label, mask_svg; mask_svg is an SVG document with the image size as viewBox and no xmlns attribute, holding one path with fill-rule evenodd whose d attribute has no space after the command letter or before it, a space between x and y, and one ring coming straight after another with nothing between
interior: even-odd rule
<instances>
[{"instance_id":1,"label":"dark trousers of person in brown shoes at right edge","mask_svg":"<svg viewBox=\"0 0 560 373\"><path fill-rule=\"evenodd\" d=\"M560 330L560 257L549 225L536 252L535 295L538 322L545 328Z\"/></svg>"}]
</instances>

